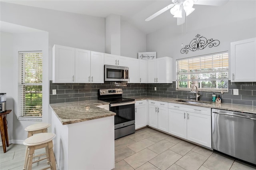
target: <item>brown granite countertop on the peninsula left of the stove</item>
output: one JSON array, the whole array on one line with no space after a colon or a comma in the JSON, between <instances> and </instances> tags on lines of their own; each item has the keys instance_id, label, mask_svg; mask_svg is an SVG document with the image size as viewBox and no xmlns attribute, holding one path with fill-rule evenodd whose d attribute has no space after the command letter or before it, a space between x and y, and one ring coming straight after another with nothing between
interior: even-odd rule
<instances>
[{"instance_id":1,"label":"brown granite countertop on the peninsula left of the stove","mask_svg":"<svg viewBox=\"0 0 256 170\"><path fill-rule=\"evenodd\" d=\"M62 123L68 125L102 117L114 116L116 113L97 107L98 105L109 105L108 102L100 100L55 103L50 104L52 110Z\"/></svg>"}]
</instances>

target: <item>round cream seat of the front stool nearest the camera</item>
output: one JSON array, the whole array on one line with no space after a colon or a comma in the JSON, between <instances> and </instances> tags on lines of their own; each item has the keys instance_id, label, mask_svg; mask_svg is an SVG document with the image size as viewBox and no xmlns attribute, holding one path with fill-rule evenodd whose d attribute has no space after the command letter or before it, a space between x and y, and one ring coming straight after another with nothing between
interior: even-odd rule
<instances>
[{"instance_id":1,"label":"round cream seat of the front stool nearest the camera","mask_svg":"<svg viewBox=\"0 0 256 170\"><path fill-rule=\"evenodd\" d=\"M44 144L47 142L50 142L56 137L54 133L40 133L30 136L29 138L26 138L26 140L23 141L23 144L26 146L36 146L39 144Z\"/></svg>"}]
</instances>

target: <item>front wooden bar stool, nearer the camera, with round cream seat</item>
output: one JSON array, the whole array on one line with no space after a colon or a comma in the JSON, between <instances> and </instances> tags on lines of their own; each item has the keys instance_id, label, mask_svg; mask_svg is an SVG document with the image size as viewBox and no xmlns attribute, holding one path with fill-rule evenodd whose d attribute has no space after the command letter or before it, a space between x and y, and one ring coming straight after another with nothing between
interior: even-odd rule
<instances>
[{"instance_id":1,"label":"front wooden bar stool, nearer the camera, with round cream seat","mask_svg":"<svg viewBox=\"0 0 256 170\"><path fill-rule=\"evenodd\" d=\"M56 137L54 133L39 133L34 136L30 136L26 140L24 140L23 144L28 146L28 154L25 157L26 163L25 163L25 170L31 170L32 169L32 159L33 154L36 149L40 148L48 148L48 156L46 158L49 159L50 166L44 168L44 170L51 168L52 170L56 170L56 162L55 162L55 156L53 152L53 143L52 140ZM43 159L46 159L43 158ZM43 160L42 159L42 160Z\"/></svg>"}]
</instances>

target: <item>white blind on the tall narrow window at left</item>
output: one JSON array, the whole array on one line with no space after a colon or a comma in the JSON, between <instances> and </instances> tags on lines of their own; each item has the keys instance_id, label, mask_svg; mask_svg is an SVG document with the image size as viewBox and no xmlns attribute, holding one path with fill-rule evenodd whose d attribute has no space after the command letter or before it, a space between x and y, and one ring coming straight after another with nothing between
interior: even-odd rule
<instances>
[{"instance_id":1,"label":"white blind on the tall narrow window at left","mask_svg":"<svg viewBox=\"0 0 256 170\"><path fill-rule=\"evenodd\" d=\"M19 119L42 121L42 51L19 51Z\"/></svg>"}]
</instances>

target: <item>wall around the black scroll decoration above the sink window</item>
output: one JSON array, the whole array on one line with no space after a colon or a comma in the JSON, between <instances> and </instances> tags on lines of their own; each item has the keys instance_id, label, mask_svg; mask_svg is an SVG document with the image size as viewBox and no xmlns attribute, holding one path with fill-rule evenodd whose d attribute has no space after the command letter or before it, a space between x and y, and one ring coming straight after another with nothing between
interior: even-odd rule
<instances>
[{"instance_id":1,"label":"wall around the black scroll decoration above the sink window","mask_svg":"<svg viewBox=\"0 0 256 170\"><path fill-rule=\"evenodd\" d=\"M183 24L183 32L182 26L172 25L148 34L147 51L157 51L157 57L173 57L175 61L221 51L230 52L230 42L256 37L256 1L229 1L225 6L207 6L198 13L195 12L196 10L188 16L187 30L186 23ZM197 34L207 39L219 40L220 45L189 51L188 54L180 53ZM173 70L173 76L176 77L175 62Z\"/></svg>"}]
</instances>

